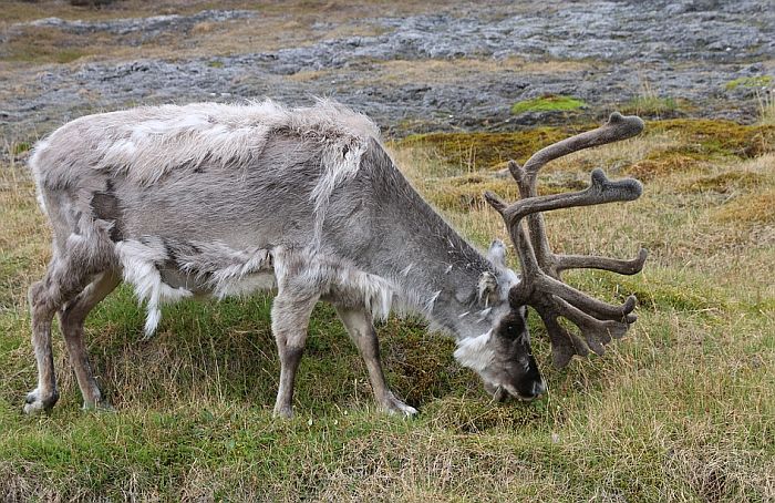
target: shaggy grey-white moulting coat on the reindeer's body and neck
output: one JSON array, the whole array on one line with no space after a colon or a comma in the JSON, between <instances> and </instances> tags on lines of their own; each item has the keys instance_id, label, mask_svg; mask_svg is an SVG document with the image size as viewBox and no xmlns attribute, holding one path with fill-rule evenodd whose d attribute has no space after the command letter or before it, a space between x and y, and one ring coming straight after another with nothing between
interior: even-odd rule
<instances>
[{"instance_id":1,"label":"shaggy grey-white moulting coat on the reindeer's body and neck","mask_svg":"<svg viewBox=\"0 0 775 503\"><path fill-rule=\"evenodd\" d=\"M164 302L276 289L291 306L420 314L467 348L467 365L517 281L503 244L476 252L409 185L374 124L330 101L86 116L39 142L30 166L54 228L50 273L75 278L35 302L118 270L146 302L146 337Z\"/></svg>"}]
</instances>

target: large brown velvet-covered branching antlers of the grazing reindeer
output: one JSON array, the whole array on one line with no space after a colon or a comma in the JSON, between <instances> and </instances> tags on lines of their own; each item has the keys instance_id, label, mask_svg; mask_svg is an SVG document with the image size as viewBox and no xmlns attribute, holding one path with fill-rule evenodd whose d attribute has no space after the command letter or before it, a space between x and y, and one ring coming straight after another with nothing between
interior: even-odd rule
<instances>
[{"instance_id":1,"label":"large brown velvet-covered branching antlers of the grazing reindeer","mask_svg":"<svg viewBox=\"0 0 775 503\"><path fill-rule=\"evenodd\" d=\"M509 291L509 302L513 306L529 305L538 311L549 333L552 361L557 367L565 367L574 355L587 356L589 349L602 355L604 345L611 338L622 337L637 319L632 314L636 307L634 296L628 297L621 306L609 305L564 284L560 273L565 269L595 268L632 275L642 269L648 254L641 248L638 257L632 260L555 255L549 247L540 212L633 201L640 197L643 188L633 178L611 182L602 170L596 168L591 173L591 185L585 191L538 196L538 171L555 158L626 140L642 130L643 121L639 117L626 117L614 112L604 125L541 148L523 167L514 161L509 162L509 172L519 185L520 201L508 205L495 194L485 193L490 206L504 217L523 268L521 280ZM521 225L524 217L528 219L529 237ZM572 321L580 329L583 339L566 330L558 320L560 317Z\"/></svg>"}]
</instances>

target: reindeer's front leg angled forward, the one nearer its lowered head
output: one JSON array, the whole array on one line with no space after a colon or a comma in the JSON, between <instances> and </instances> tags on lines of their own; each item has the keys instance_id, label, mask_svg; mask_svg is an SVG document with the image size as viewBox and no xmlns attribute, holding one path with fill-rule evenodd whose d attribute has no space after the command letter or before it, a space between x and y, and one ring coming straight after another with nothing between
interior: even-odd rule
<instances>
[{"instance_id":1,"label":"reindeer's front leg angled forward, the one nearer its lowered head","mask_svg":"<svg viewBox=\"0 0 775 503\"><path fill-rule=\"evenodd\" d=\"M371 315L364 308L348 308L338 305L334 307L344 328L350 333L350 338L363 357L371 387L374 390L374 398L380 409L390 414L407 417L416 414L416 409L395 398L388 388L380 361L380 342L376 339L376 330L374 330Z\"/></svg>"}]
</instances>

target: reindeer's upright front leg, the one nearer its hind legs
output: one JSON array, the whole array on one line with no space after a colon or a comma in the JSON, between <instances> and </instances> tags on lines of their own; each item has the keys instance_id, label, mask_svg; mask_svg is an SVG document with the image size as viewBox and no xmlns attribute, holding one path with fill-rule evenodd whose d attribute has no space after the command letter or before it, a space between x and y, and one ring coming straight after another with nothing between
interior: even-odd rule
<instances>
[{"instance_id":1,"label":"reindeer's upright front leg, the one nearer its hind legs","mask_svg":"<svg viewBox=\"0 0 775 503\"><path fill-rule=\"evenodd\" d=\"M271 327L280 355L280 387L275 401L275 417L293 415L293 381L304 352L310 315L317 295L296 296L280 290L271 308Z\"/></svg>"}]
</instances>

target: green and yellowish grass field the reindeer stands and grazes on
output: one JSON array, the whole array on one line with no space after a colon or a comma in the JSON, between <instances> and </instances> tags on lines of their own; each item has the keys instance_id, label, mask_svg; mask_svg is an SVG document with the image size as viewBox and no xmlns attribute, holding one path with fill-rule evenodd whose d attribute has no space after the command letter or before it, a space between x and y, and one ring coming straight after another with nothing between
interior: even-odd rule
<instances>
[{"instance_id":1,"label":"green and yellowish grass field the reindeer stands and grazes on","mask_svg":"<svg viewBox=\"0 0 775 503\"><path fill-rule=\"evenodd\" d=\"M415 186L484 246L506 233L479 192L516 196L513 182L492 168L514 154L524 161L528 150L565 134L426 135L391 148ZM650 249L645 270L633 277L567 274L570 284L609 300L634 292L638 322L604 357L558 371L549 367L545 331L531 316L550 391L537 402L502 406L454 362L450 340L413 320L391 319L379 328L383 360L391 386L421 410L411 421L374 410L364 366L326 306L312 318L297 418L277 421L271 298L167 307L157 336L140 342L143 314L124 287L86 325L95 372L117 412L80 410L55 337L60 403L50 415L23 417L23 396L35 381L24 291L42 274L49 248L32 183L16 161L25 148L7 142L14 155L0 165L0 495L772 501L769 135L764 125L652 122L638 138L547 166L539 184L548 192L581 186L597 165L612 175L636 166L648 174L637 202L547 216L560 252L629 256L640 245ZM465 145L477 145L476 158L487 162L471 162ZM650 172L649 160L665 165ZM685 160L694 164L681 164Z\"/></svg>"}]
</instances>

